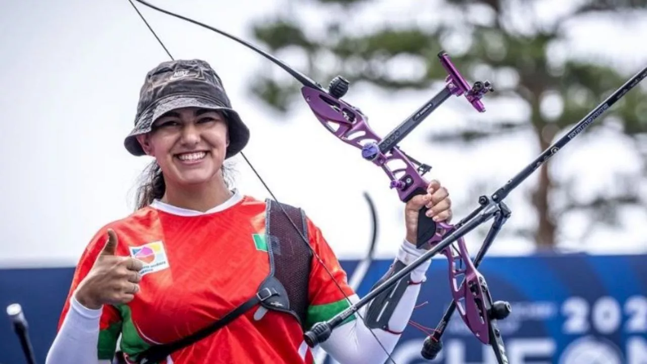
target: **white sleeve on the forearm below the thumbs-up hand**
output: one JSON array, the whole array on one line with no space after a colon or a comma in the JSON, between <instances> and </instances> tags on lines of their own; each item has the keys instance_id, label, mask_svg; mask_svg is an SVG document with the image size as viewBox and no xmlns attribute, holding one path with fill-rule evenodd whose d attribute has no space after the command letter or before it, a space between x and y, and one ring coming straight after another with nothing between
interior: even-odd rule
<instances>
[{"instance_id":1,"label":"white sleeve on the forearm below the thumbs-up hand","mask_svg":"<svg viewBox=\"0 0 647 364\"><path fill-rule=\"evenodd\" d=\"M97 358L99 320L103 310L91 310L72 295L70 309L49 348L45 364L110 364Z\"/></svg>"}]
</instances>

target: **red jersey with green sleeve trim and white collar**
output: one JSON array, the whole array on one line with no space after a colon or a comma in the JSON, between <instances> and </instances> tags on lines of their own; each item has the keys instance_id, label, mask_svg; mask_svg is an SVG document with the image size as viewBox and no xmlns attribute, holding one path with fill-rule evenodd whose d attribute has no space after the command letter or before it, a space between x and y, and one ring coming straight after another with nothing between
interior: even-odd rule
<instances>
[{"instance_id":1,"label":"red jersey with green sleeve trim and white collar","mask_svg":"<svg viewBox=\"0 0 647 364\"><path fill-rule=\"evenodd\" d=\"M116 255L144 263L140 291L128 304L104 305L98 358L112 359L120 347L134 356L154 343L168 343L213 323L256 293L269 273L265 245L265 201L244 196L215 212L184 214L181 209L144 207L100 229L83 252L69 299L107 241L107 228L118 236ZM184 210L186 211L186 210ZM192 215L192 216L190 216ZM346 274L313 222L310 244L333 273L345 295L353 295ZM313 256L306 325L329 319L349 306ZM258 306L225 327L171 355L163 363L313 363L311 350L292 315L268 311L254 319ZM59 327L60 327L59 324Z\"/></svg>"}]
</instances>

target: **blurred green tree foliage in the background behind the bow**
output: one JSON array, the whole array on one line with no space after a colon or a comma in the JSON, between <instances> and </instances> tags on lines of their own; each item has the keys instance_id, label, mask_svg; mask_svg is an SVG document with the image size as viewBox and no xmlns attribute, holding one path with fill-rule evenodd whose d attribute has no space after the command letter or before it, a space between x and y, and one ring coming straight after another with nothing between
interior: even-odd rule
<instances>
[{"instance_id":1,"label":"blurred green tree foliage in the background behind the bow","mask_svg":"<svg viewBox=\"0 0 647 364\"><path fill-rule=\"evenodd\" d=\"M622 24L623 17L645 16L647 1L574 1L569 14L552 21L540 21L532 10L537 1L445 0L437 1L437 21L427 24L417 19L409 23L386 22L378 27L358 27L356 19L373 11L370 0L294 0L291 6L316 6L320 16L316 24L300 23L286 14L260 21L254 26L256 43L277 56L299 54L306 61L298 68L315 80L331 80L344 75L351 84L367 82L388 91L424 90L446 76L437 54L450 48L452 60L472 82L488 78L496 93L487 95L487 103L496 98L522 102L530 110L523 120L475 122L452 133L434 133L430 142L470 143L494 135L532 130L537 151L544 150L558 133L571 128L593 107L626 81L637 70L622 70L586 58L553 56L554 45L564 40L564 28L577 17L604 14ZM578 3L579 5L577 5ZM642 10L642 12L641 12ZM411 12L411 14L414 14ZM424 26L421 25L424 23ZM316 28L316 31L313 30ZM453 47L452 40L466 40L463 47ZM455 43L455 42L454 42ZM600 47L604 47L601 44ZM403 78L388 72L385 64L393 58L410 60L422 71ZM333 62L318 62L332 60ZM485 77L484 77L485 75ZM505 78L505 80L503 79ZM510 78L514 80L509 82ZM289 77L263 72L252 90L277 111L287 112L300 100L299 84ZM556 112L545 113L542 103L556 102ZM647 173L647 97L645 88L634 89L605 116L630 136L644 162L640 175L617 176L624 183L619 192L598 190L590 199L574 198L572 181L555 181L549 163L535 173L538 183L529 203L536 209L532 231L517 231L533 239L539 247L556 245L560 217L575 210L587 212L591 224L617 222L622 206L646 204L639 187ZM598 121L587 133L599 128ZM642 138L642 139L641 139ZM481 186L482 187L482 186ZM479 193L485 190L479 187ZM489 190L487 190L489 191ZM553 203L551 196L559 196ZM475 201L472 199L471 201Z\"/></svg>"}]
</instances>

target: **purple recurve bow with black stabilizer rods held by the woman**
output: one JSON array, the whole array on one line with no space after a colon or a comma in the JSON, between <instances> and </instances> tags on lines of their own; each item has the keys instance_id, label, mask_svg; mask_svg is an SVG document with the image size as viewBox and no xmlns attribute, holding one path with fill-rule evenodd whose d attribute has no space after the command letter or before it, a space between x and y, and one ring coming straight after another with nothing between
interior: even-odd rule
<instances>
[{"instance_id":1,"label":"purple recurve bow with black stabilizer rods held by the woman","mask_svg":"<svg viewBox=\"0 0 647 364\"><path fill-rule=\"evenodd\" d=\"M129 0L131 1L131 0ZM237 41L253 51L258 52L261 56L271 60L276 63L279 67L284 69L287 73L291 74L296 80L303 84L302 95L307 102L308 106L313 111L315 117L322 123L327 130L329 130L333 135L338 137L341 141L344 141L347 144L355 146L362 151L362 157L371 163L380 166L382 170L388 176L390 183L389 187L397 190L398 196L401 201L407 202L413 196L419 194L426 194L426 188L428 186L428 181L422 177L426 172L428 172L431 167L424 163L413 159L409 155L406 155L400 147L397 146L399 141L402 141L406 135L411 133L418 126L422 120L426 119L435 109L437 109L443 102L448 100L452 95L459 97L464 95L466 100L472 104L479 112L484 112L485 107L481 102L481 98L488 92L493 91L492 85L489 82L475 82L472 87L466 82L465 78L461 76L459 71L456 69L454 64L452 64L449 56L445 52L440 52L438 54L439 61L447 73L445 78L444 88L423 104L419 109L411 113L411 115L400 123L397 128L388 133L386 137L379 137L371 128L369 127L366 116L362 114L360 109L355 108L347 104L341 98L347 93L349 88L349 82L342 76L337 76L334 78L327 89L324 89L320 84L311 80L305 74L300 73L296 69L293 69L289 65L281 62L278 58L275 58L271 54L261 51L258 47L248 43L247 41L241 40L236 36L232 36L223 30L219 30L199 21L195 21L188 17L184 17L168 10L161 9L157 6L153 6L146 1L136 0L138 3L153 8L164 14L170 16L178 17L199 25L201 27L207 28L218 34L226 36L231 40ZM132 3L135 10L137 7ZM142 16L141 13L137 10L138 14L146 25L146 19ZM149 29L155 37L157 34L152 30L148 25ZM157 38L162 47L164 44ZM166 50L166 47L164 47ZM168 51L167 51L168 52ZM170 54L169 54L170 55ZM172 58L172 57L171 57ZM432 258L438 253L443 253L448 259L448 273L450 280L450 290L452 293L452 302L446 312L443 315L440 323L437 325L435 332L428 336L422 346L421 354L424 358L432 359L435 358L439 350L441 350L441 341L440 338L443 335L443 332L447 326L447 323L450 321L452 315L457 310L461 319L465 322L466 326L474 334L474 336L485 345L490 345L494 350L494 354L499 364L507 364L508 359L505 354L505 347L503 345L503 339L498 330L497 321L505 319L509 315L511 308L510 304L503 301L492 301L492 296L490 289L488 288L487 282L483 275L477 271L476 267L479 266L483 257L485 256L488 248L492 245L494 238L497 236L501 227L510 217L510 209L503 203L503 199L518 185L520 185L523 180L539 168L545 161L550 157L555 155L561 148L564 148L567 142L574 139L579 135L584 129L589 126L595 119L597 119L604 111L610 108L615 102L620 100L625 93L630 91L635 85L639 84L642 79L647 76L647 67L642 69L639 73L635 74L630 80L628 80L622 87L617 89L612 95L610 95L602 104L597 106L591 113L589 113L584 119L580 120L571 130L569 130L563 137L558 141L554 142L553 145L549 146L546 150L542 152L534 161L527 165L521 172L516 176L512 177L503 187L499 188L491 196L480 196L478 199L479 206L476 207L468 216L463 218L460 222L455 225L449 225L447 223L435 223L432 219L427 218L425 215L426 207L423 207L419 212L418 219L418 231L417 231L417 247L425 247L428 249L422 256L417 258L415 261L408 264L404 269L398 271L389 279L385 280L379 286L373 288L369 293L367 293L362 299L360 299L355 304L351 304L349 308L343 312L338 313L338 315L329 319L328 321L314 324L311 330L305 332L303 335L305 342L310 347L314 347L318 343L325 341L331 334L332 330L338 325L340 325L345 319L351 315L357 313L358 310L371 302L377 295L383 293L385 290L392 288L400 279L408 275L413 269L420 266L426 260ZM245 158L248 164L249 161ZM389 164L393 162L400 162L405 165L404 168L399 167L397 169L392 169ZM253 166L252 170L254 170ZM258 176L258 174L257 174ZM258 176L260 178L260 176ZM262 180L262 179L261 179ZM265 184L265 183L264 183ZM267 188L267 185L266 185ZM268 192L272 194L271 190L267 188ZM274 198L274 194L272 194ZM276 199L276 198L274 198ZM283 213L288 217L287 212L283 210ZM488 234L479 249L474 262L470 260L470 255L465 247L465 240L463 236L469 233L470 231L476 229L481 223L487 222L490 219L494 219L492 226L488 231ZM290 220L291 221L291 220ZM295 229L298 230L294 222L292 225ZM310 247L307 238L302 235L304 244ZM452 244L456 242L457 248ZM315 253L316 256L316 253ZM459 267L457 267L459 266ZM464 267L463 267L464 266ZM325 266L324 266L325 267ZM331 275L332 278L332 275ZM462 279L461 282L458 280ZM334 279L333 279L334 281ZM336 281L334 281L337 284ZM341 288L340 288L341 290ZM342 294L345 293L342 291ZM346 298L348 298L346 296ZM382 345L380 340L375 336L375 333L371 331L373 337L377 342ZM382 346L384 349L384 347ZM389 352L384 349L386 354L390 358ZM391 358L391 361L393 359Z\"/></svg>"}]
</instances>

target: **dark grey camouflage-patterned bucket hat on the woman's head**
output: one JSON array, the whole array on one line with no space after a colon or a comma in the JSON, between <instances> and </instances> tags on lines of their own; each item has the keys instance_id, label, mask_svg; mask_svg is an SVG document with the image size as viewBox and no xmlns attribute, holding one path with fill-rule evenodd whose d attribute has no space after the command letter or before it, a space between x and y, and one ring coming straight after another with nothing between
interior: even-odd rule
<instances>
[{"instance_id":1,"label":"dark grey camouflage-patterned bucket hat on the woman's head","mask_svg":"<svg viewBox=\"0 0 647 364\"><path fill-rule=\"evenodd\" d=\"M144 155L135 136L151 131L155 120L179 108L205 108L222 111L228 122L229 146L225 158L243 150L249 141L249 129L232 109L220 77L203 60L162 62L146 74L140 90L135 128L124 140L126 150Z\"/></svg>"}]
</instances>

